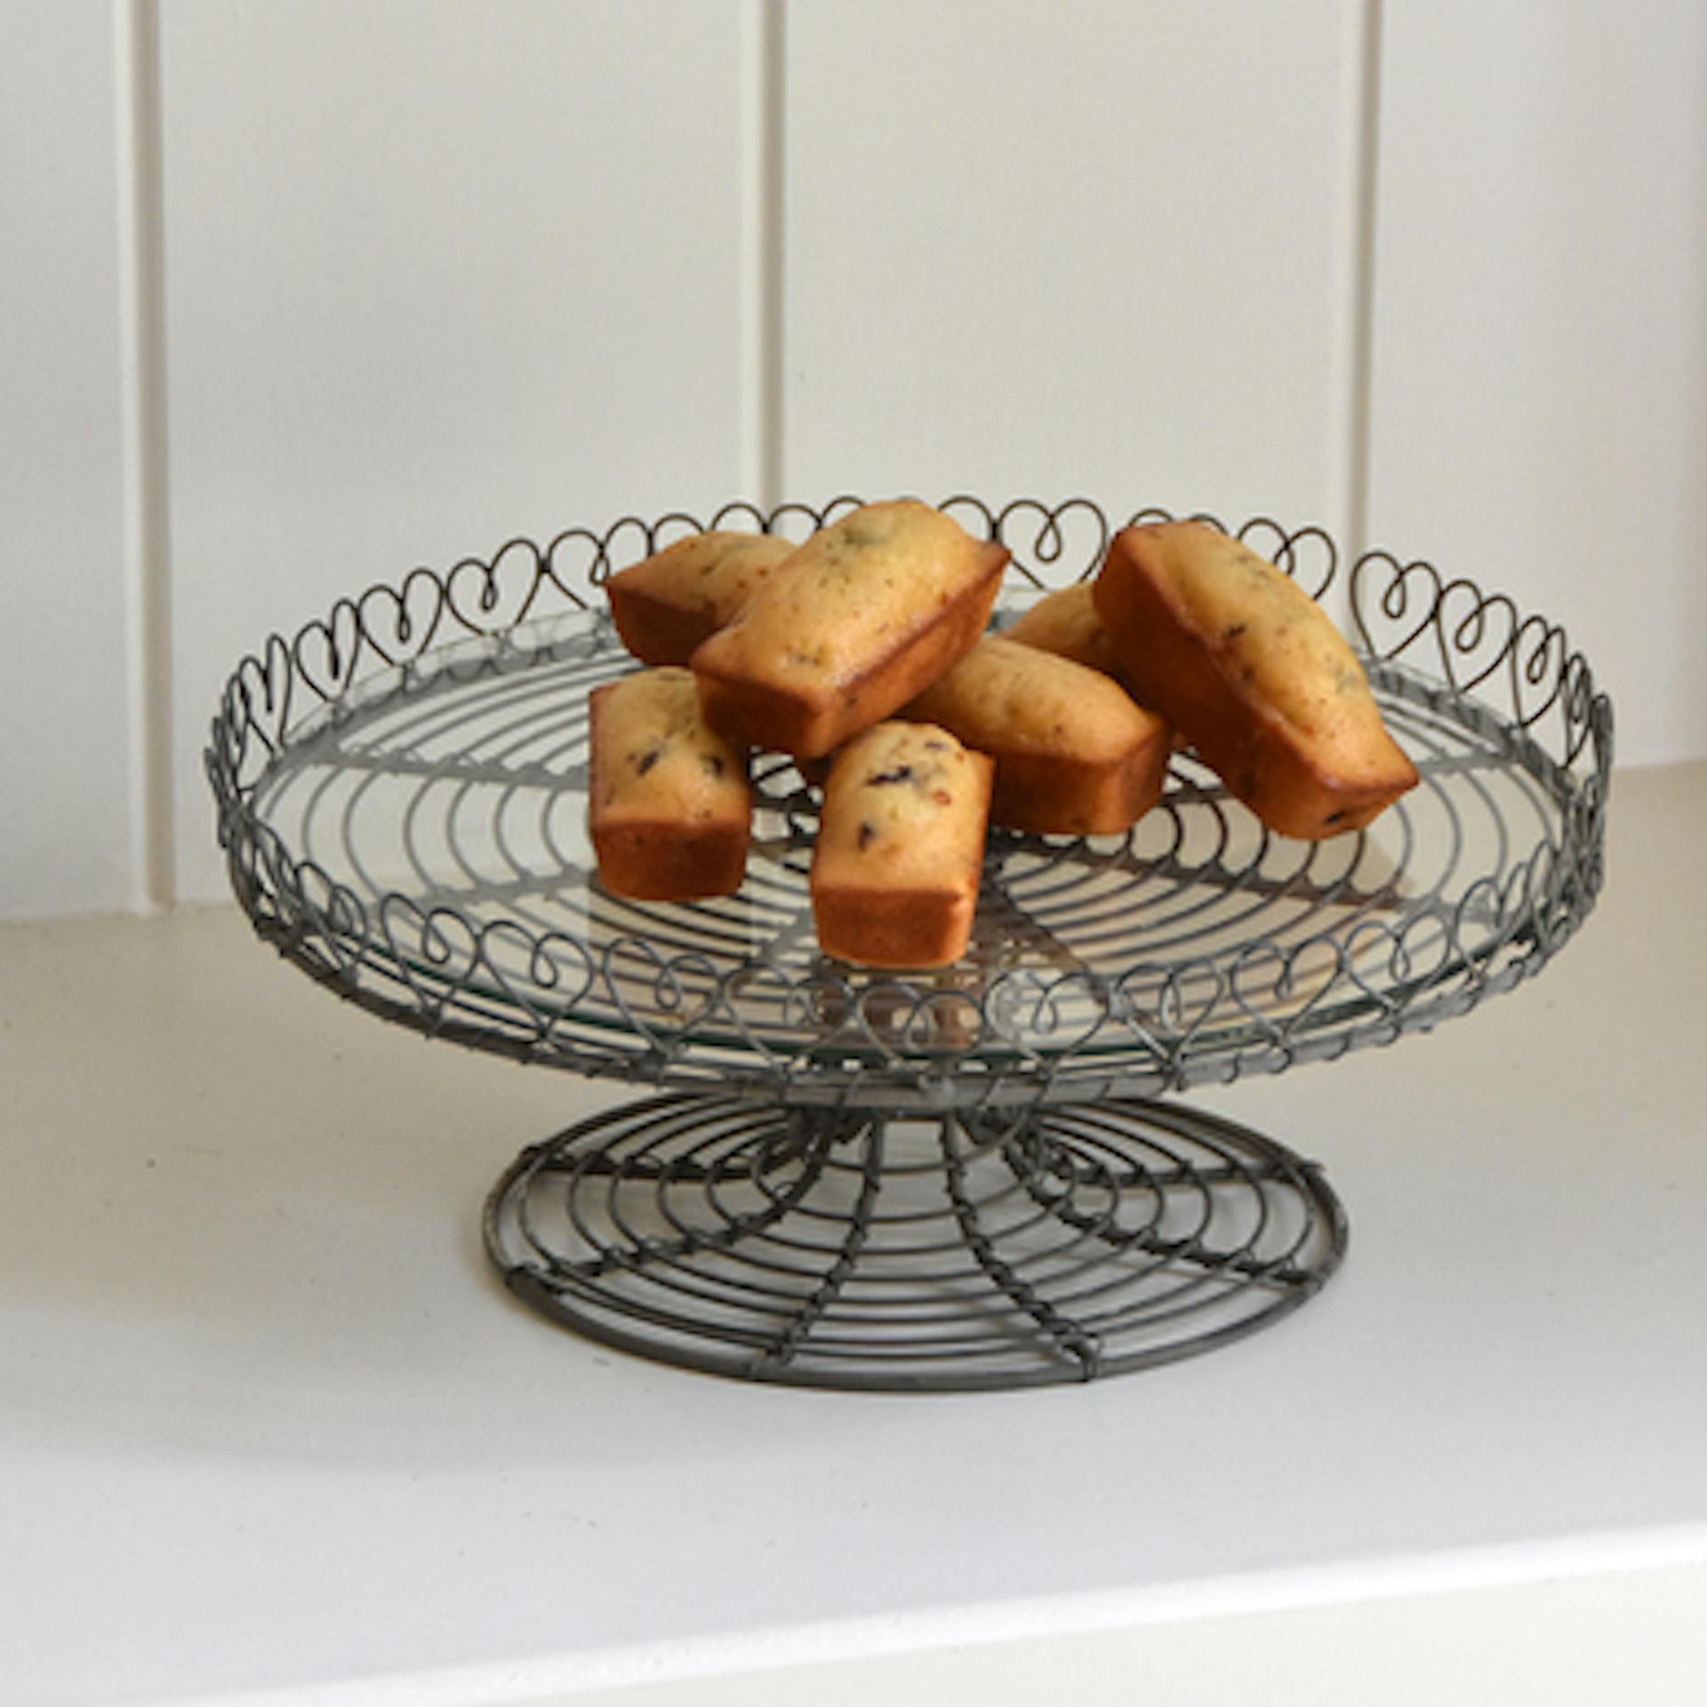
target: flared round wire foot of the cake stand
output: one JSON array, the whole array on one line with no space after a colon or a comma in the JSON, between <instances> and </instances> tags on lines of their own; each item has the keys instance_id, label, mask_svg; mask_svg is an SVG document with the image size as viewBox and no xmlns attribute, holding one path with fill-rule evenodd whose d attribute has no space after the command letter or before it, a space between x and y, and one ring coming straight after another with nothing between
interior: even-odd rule
<instances>
[{"instance_id":1,"label":"flared round wire foot of the cake stand","mask_svg":"<svg viewBox=\"0 0 1707 1707\"><path fill-rule=\"evenodd\" d=\"M659 1098L522 1154L486 1205L507 1284L580 1333L833 1388L1084 1381L1314 1296L1321 1174L1183 1108L937 1118Z\"/></svg>"}]
</instances>

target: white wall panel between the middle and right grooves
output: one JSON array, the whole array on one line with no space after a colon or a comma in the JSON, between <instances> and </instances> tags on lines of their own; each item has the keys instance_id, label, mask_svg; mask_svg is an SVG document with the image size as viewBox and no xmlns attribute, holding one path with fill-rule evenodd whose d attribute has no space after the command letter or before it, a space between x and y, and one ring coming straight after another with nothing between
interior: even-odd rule
<instances>
[{"instance_id":1,"label":"white wall panel between the middle and right grooves","mask_svg":"<svg viewBox=\"0 0 1707 1707\"><path fill-rule=\"evenodd\" d=\"M1360 9L789 9L790 490L1345 509Z\"/></svg>"}]
</instances>

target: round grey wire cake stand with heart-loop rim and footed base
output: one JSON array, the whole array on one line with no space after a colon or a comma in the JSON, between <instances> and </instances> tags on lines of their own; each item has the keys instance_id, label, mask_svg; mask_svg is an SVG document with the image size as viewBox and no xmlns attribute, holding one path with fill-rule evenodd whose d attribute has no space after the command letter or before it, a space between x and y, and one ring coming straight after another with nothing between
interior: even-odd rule
<instances>
[{"instance_id":1,"label":"round grey wire cake stand with heart-loop rim and footed base","mask_svg":"<svg viewBox=\"0 0 1707 1707\"><path fill-rule=\"evenodd\" d=\"M1393 1043L1536 973L1601 886L1606 696L1504 596L1386 551L1342 574L1321 529L1258 517L1239 538L1354 635L1422 777L1367 830L1273 836L1180 751L1125 836L992 831L968 953L898 976L819 954L818 795L758 754L737 894L609 894L587 691L635 664L603 582L690 531L804 538L857 502L517 539L273 635L207 751L239 903L374 1014L657 1087L526 1149L486 1202L505 1282L584 1335L954 1389L1277 1321L1340 1265L1340 1202L1178 1092ZM1084 498L942 509L1009 546L999 620L1092 575L1121 524Z\"/></svg>"}]
</instances>

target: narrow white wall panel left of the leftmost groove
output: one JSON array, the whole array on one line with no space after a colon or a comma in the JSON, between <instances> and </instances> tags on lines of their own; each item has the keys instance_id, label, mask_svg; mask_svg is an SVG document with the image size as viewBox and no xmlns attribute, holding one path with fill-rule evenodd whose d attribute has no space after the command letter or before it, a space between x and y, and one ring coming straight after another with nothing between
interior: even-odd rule
<instances>
[{"instance_id":1,"label":"narrow white wall panel left of the leftmost groove","mask_svg":"<svg viewBox=\"0 0 1707 1707\"><path fill-rule=\"evenodd\" d=\"M0 913L138 900L119 75L101 0L0 5Z\"/></svg>"}]
</instances>

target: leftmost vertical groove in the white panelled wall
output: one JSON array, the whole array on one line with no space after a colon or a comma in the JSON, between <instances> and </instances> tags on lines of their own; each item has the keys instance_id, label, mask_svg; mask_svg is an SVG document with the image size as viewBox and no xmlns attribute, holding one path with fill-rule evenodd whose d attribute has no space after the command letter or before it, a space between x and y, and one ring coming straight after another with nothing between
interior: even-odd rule
<instances>
[{"instance_id":1,"label":"leftmost vertical groove in the white panelled wall","mask_svg":"<svg viewBox=\"0 0 1707 1707\"><path fill-rule=\"evenodd\" d=\"M174 898L166 266L157 0L114 0L119 387L125 410L125 601L130 659L131 889Z\"/></svg>"}]
</instances>

